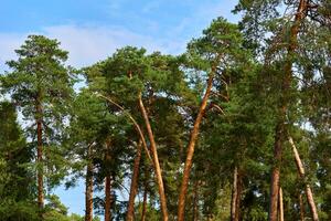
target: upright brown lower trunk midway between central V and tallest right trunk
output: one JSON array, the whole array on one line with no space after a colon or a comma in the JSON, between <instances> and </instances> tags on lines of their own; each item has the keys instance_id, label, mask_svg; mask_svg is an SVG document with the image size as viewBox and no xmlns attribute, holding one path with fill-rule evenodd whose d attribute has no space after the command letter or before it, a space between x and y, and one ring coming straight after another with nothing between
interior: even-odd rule
<instances>
[{"instance_id":1,"label":"upright brown lower trunk midway between central V and tallest right trunk","mask_svg":"<svg viewBox=\"0 0 331 221\"><path fill-rule=\"evenodd\" d=\"M233 173L233 189L231 199L231 221L239 221L241 215L241 196L243 190L242 175L237 167Z\"/></svg>"}]
</instances>

